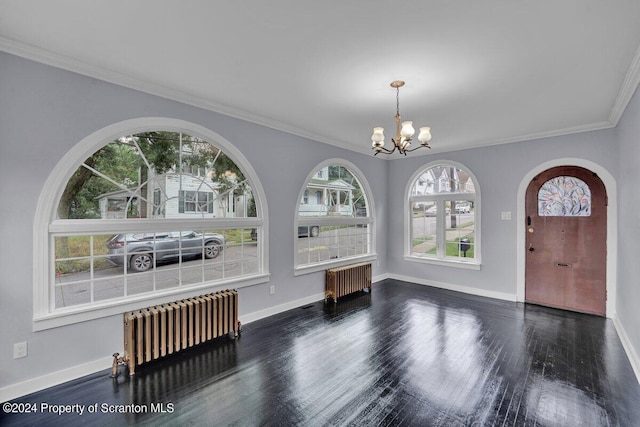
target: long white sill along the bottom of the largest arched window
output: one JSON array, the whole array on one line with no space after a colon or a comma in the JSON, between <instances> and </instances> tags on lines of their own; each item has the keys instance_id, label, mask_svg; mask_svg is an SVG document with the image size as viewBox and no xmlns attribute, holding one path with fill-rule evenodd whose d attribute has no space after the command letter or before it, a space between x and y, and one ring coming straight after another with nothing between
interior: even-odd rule
<instances>
[{"instance_id":1,"label":"long white sill along the bottom of the largest arched window","mask_svg":"<svg viewBox=\"0 0 640 427\"><path fill-rule=\"evenodd\" d=\"M202 293L217 292L224 289L240 289L248 286L254 286L260 283L266 283L270 279L270 275L256 274L252 277L242 277L238 279L230 279L223 283L201 284L198 286L189 286L168 289L162 293L155 292L152 294L135 295L127 299L118 301L105 301L92 304L91 306L69 307L59 309L53 313L46 313L33 318L33 330L43 331L46 329L57 328L60 326L71 325L74 323L86 322L89 320L99 319L102 317L122 314L126 311L138 310L140 308L164 304L166 302L175 301L200 295Z\"/></svg>"}]
</instances>

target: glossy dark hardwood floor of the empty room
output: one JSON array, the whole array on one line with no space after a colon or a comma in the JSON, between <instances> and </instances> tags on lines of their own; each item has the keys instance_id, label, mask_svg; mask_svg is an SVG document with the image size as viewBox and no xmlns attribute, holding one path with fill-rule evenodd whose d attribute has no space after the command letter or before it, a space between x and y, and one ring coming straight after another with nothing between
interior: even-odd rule
<instances>
[{"instance_id":1,"label":"glossy dark hardwood floor of the empty room","mask_svg":"<svg viewBox=\"0 0 640 427\"><path fill-rule=\"evenodd\" d=\"M640 425L640 385L610 320L393 280L253 322L235 341L131 378L109 373L13 401L82 415L0 424Z\"/></svg>"}]
</instances>

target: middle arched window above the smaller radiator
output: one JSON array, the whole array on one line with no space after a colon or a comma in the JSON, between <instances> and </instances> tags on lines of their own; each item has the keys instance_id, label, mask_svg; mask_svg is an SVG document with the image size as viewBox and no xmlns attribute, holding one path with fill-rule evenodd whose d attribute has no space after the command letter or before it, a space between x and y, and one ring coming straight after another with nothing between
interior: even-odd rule
<instances>
[{"instance_id":1,"label":"middle arched window above the smaller radiator","mask_svg":"<svg viewBox=\"0 0 640 427\"><path fill-rule=\"evenodd\" d=\"M344 160L328 160L309 174L296 212L297 273L375 259L370 194L360 171Z\"/></svg>"}]
</instances>

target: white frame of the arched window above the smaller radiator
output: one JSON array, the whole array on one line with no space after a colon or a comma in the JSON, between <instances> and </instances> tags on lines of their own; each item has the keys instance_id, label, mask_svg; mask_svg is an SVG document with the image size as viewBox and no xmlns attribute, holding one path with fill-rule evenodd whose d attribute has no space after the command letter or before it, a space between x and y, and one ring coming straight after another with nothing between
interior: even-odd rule
<instances>
[{"instance_id":1,"label":"white frame of the arched window above the smaller radiator","mask_svg":"<svg viewBox=\"0 0 640 427\"><path fill-rule=\"evenodd\" d=\"M322 163L316 165L307 175L300 192L298 193L297 200L302 200L302 196L304 195L305 190L307 189L307 184L311 179L317 177L318 170L322 170L328 166L342 166L345 169L348 169L349 172L358 180L360 183L360 188L364 193L364 197L367 203L367 215L366 217L301 217L298 215L299 207L296 205L293 221L293 265L294 265L294 275L308 274L316 271L324 271L328 268L339 267L343 265L353 264L356 262L366 262L373 261L377 259L376 254L376 233L375 233L375 206L373 201L373 193L371 191L371 187L369 183L364 177L364 174L354 165L353 163L339 158L328 159L323 161ZM305 264L298 265L298 227L303 226L340 226L340 225L356 225L356 224L367 224L368 229L370 230L370 241L369 241L369 253L363 255L355 255L344 258L337 258L328 261L321 261L313 264Z\"/></svg>"}]
</instances>

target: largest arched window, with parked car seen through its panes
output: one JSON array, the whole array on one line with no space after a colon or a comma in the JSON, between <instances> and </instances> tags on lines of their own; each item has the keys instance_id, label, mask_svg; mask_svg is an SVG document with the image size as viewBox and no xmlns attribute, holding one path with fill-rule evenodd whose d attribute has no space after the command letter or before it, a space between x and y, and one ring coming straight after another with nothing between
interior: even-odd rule
<instances>
[{"instance_id":1,"label":"largest arched window, with parked car seen through its panes","mask_svg":"<svg viewBox=\"0 0 640 427\"><path fill-rule=\"evenodd\" d=\"M151 122L96 132L53 171L39 202L51 253L36 253L48 272L35 279L36 320L264 281L264 198L248 162L204 128Z\"/></svg>"}]
</instances>

